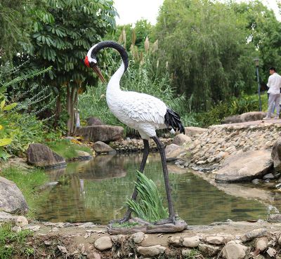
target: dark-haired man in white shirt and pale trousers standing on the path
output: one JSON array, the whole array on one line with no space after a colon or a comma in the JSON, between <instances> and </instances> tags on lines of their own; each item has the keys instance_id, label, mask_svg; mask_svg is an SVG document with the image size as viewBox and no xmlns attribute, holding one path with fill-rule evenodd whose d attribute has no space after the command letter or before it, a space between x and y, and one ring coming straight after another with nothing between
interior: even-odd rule
<instances>
[{"instance_id":1,"label":"dark-haired man in white shirt and pale trousers standing on the path","mask_svg":"<svg viewBox=\"0 0 281 259\"><path fill-rule=\"evenodd\" d=\"M276 116L274 119L279 119L280 115L280 88L281 88L281 76L277 74L275 67L269 69L270 77L268 77L268 114L263 119L271 119L271 113L273 111L273 105L276 107Z\"/></svg>"}]
</instances>

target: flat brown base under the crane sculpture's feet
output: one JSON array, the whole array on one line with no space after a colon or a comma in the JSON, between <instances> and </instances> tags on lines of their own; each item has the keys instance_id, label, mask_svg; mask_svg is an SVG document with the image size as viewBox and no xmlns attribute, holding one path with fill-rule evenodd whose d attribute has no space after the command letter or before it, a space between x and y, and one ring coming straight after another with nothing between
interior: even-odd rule
<instances>
[{"instance_id":1,"label":"flat brown base under the crane sculpture's feet","mask_svg":"<svg viewBox=\"0 0 281 259\"><path fill-rule=\"evenodd\" d=\"M128 225L125 223L124 227L122 225L117 227L115 224L109 224L107 225L107 232L109 234L133 234L136 232L143 232L145 234L175 233L182 232L188 228L188 224L184 220L176 220L175 225L173 223L154 225L140 218L131 218L128 223ZM138 223L138 225L133 225L134 223Z\"/></svg>"}]
</instances>

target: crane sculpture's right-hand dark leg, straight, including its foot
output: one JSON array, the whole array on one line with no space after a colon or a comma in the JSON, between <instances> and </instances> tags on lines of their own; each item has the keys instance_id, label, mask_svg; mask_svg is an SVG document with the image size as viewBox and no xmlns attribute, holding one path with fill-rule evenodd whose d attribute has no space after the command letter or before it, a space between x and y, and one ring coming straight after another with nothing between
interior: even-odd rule
<instances>
[{"instance_id":1,"label":"crane sculpture's right-hand dark leg, straight, including its foot","mask_svg":"<svg viewBox=\"0 0 281 259\"><path fill-rule=\"evenodd\" d=\"M161 156L161 161L162 161L162 167L163 167L163 175L164 175L164 182L165 182L165 187L166 187L166 196L168 199L168 208L169 208L169 218L166 220L160 220L159 222L155 223L155 225L162 225L166 223L174 223L176 224L176 215L174 213L174 206L171 201L171 187L169 183L169 173L168 173L168 168L166 164L166 155L165 155L165 149L164 149L164 144L157 138L157 136L152 137L152 139L155 141L160 156Z\"/></svg>"}]
</instances>

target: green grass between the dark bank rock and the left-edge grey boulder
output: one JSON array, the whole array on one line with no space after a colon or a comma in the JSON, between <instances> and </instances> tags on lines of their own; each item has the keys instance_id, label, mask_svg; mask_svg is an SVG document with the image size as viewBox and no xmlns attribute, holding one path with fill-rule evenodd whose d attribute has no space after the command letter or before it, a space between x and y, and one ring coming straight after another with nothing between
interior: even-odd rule
<instances>
[{"instance_id":1,"label":"green grass between the dark bank rock and the left-edge grey boulder","mask_svg":"<svg viewBox=\"0 0 281 259\"><path fill-rule=\"evenodd\" d=\"M37 211L37 198L39 196L38 187L48 182L48 176L46 173L38 168L34 168L30 171L22 171L20 168L9 166L4 168L0 175L15 182L30 208L27 216L34 218L34 214Z\"/></svg>"}]
</instances>

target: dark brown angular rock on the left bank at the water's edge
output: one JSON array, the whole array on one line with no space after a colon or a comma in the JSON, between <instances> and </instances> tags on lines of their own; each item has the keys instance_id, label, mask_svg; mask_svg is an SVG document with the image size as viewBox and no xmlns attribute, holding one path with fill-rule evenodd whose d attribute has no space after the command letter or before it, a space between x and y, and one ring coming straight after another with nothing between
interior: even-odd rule
<instances>
[{"instance_id":1,"label":"dark brown angular rock on the left bank at the water's edge","mask_svg":"<svg viewBox=\"0 0 281 259\"><path fill-rule=\"evenodd\" d=\"M43 144L30 144L27 149L27 163L39 167L65 166L65 159Z\"/></svg>"}]
</instances>

